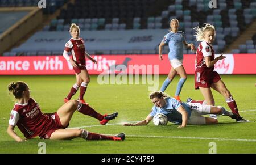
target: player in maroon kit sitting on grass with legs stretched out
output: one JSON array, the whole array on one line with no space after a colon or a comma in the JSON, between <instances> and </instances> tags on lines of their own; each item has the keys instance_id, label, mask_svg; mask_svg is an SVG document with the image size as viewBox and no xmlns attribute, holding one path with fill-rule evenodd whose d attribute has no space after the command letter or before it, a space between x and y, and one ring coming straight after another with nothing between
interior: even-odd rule
<instances>
[{"instance_id":1,"label":"player in maroon kit sitting on grass with legs stretched out","mask_svg":"<svg viewBox=\"0 0 256 165\"><path fill-rule=\"evenodd\" d=\"M18 81L9 84L8 89L13 93L18 101L13 110L9 120L7 133L18 142L25 141L19 137L14 128L17 125L20 131L24 134L26 139L39 136L42 139L73 139L77 137L86 140L114 140L123 141L125 134L120 133L117 136L105 136L102 134L88 132L85 129L65 129L69 125L69 121L73 113L79 111L84 115L92 116L100 120L101 124L106 124L109 120L115 119L118 113L111 115L101 115L93 108L86 104L82 104L77 100L70 100L62 105L57 112L44 114L40 110L38 103L30 98L30 88L24 82Z\"/></svg>"}]
</instances>

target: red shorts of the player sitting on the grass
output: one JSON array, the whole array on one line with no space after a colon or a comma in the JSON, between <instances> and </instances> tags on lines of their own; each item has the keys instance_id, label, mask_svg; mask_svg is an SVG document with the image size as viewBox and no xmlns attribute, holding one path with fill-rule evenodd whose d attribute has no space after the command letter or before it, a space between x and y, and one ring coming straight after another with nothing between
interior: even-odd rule
<instances>
[{"instance_id":1,"label":"red shorts of the player sitting on the grass","mask_svg":"<svg viewBox=\"0 0 256 165\"><path fill-rule=\"evenodd\" d=\"M51 126L49 126L46 132L44 132L42 135L40 135L39 137L41 139L49 139L52 135L53 132L55 132L55 130L60 129L60 128L67 128L67 126L63 126L60 122L60 117L57 114L57 112L55 113L46 113L45 115L49 116L51 120L53 120L54 122L51 122Z\"/></svg>"}]
</instances>

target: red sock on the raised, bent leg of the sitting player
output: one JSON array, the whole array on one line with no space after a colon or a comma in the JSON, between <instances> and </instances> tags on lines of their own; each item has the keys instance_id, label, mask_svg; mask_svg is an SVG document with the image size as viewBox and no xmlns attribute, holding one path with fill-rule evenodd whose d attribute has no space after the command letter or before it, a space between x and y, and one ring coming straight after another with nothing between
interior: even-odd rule
<instances>
[{"instance_id":1,"label":"red sock on the raised, bent leg of the sitting player","mask_svg":"<svg viewBox=\"0 0 256 165\"><path fill-rule=\"evenodd\" d=\"M92 116L98 120L103 120L104 116L101 115L100 113L96 112L93 108L91 108L89 105L86 104L82 104L79 101L79 104L77 106L77 111L79 111L80 113L84 114L84 115L89 115Z\"/></svg>"}]
</instances>

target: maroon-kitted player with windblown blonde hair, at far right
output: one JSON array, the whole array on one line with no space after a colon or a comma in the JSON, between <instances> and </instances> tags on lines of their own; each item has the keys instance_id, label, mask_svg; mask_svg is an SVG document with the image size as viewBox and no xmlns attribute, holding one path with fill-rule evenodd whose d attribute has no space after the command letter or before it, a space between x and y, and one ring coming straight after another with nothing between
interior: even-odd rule
<instances>
[{"instance_id":1,"label":"maroon-kitted player with windblown blonde hair, at far right","mask_svg":"<svg viewBox=\"0 0 256 165\"><path fill-rule=\"evenodd\" d=\"M213 88L224 96L226 103L231 111L237 116L237 122L250 122L242 119L238 112L236 101L233 99L224 82L221 80L217 71L214 71L214 64L218 60L226 58L221 54L217 58L214 57L212 43L214 41L216 31L211 24L205 24L204 27L196 27L196 41L202 41L196 51L196 71L195 71L195 88L200 89L207 105L214 105L214 98L210 88ZM203 101L201 101L202 103Z\"/></svg>"}]
</instances>

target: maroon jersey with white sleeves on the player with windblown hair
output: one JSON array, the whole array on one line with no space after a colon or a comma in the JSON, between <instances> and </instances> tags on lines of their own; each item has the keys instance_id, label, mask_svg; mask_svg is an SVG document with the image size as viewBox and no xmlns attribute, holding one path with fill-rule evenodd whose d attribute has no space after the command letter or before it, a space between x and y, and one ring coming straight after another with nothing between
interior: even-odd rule
<instances>
[{"instance_id":1,"label":"maroon jersey with white sleeves on the player with windblown hair","mask_svg":"<svg viewBox=\"0 0 256 165\"><path fill-rule=\"evenodd\" d=\"M196 69L208 69L205 64L204 57L210 57L210 60L214 60L214 50L212 46L207 43L207 41L203 41L199 44L196 50ZM209 68L210 70L214 70L214 66Z\"/></svg>"}]
</instances>

